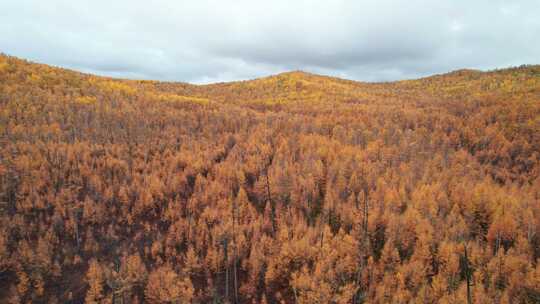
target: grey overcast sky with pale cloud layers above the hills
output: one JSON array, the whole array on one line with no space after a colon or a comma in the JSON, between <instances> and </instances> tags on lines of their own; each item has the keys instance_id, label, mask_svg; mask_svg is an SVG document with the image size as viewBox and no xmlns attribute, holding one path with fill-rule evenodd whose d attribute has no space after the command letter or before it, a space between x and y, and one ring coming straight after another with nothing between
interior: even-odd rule
<instances>
[{"instance_id":1,"label":"grey overcast sky with pale cloud layers above the hills","mask_svg":"<svg viewBox=\"0 0 540 304\"><path fill-rule=\"evenodd\" d=\"M363 80L540 63L540 0L1 0L0 52L123 78Z\"/></svg>"}]
</instances>

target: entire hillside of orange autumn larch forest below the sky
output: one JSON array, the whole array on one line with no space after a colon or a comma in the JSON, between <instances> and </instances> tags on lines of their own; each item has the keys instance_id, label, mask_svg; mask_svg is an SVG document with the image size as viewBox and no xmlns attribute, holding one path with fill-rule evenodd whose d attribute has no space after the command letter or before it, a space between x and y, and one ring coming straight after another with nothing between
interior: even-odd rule
<instances>
[{"instance_id":1,"label":"entire hillside of orange autumn larch forest below the sky","mask_svg":"<svg viewBox=\"0 0 540 304\"><path fill-rule=\"evenodd\" d=\"M191 85L0 56L1 303L540 303L540 66Z\"/></svg>"}]
</instances>

